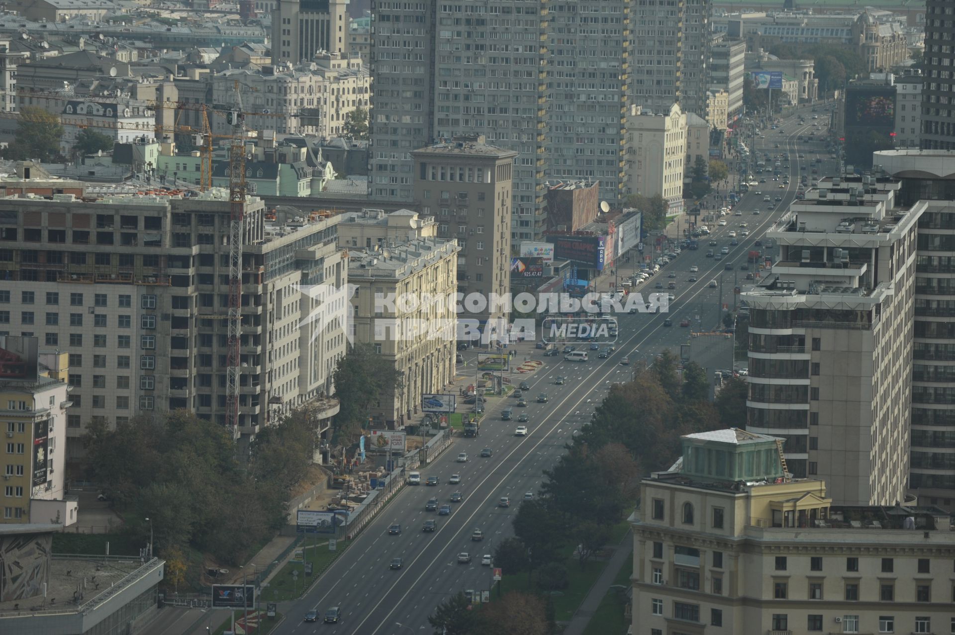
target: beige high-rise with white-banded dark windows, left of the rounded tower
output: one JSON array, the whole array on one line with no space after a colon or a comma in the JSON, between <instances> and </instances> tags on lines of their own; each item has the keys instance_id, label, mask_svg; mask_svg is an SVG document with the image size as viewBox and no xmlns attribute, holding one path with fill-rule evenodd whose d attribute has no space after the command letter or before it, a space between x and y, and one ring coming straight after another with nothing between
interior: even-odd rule
<instances>
[{"instance_id":1,"label":"beige high-rise with white-banded dark windows, left of the rounded tower","mask_svg":"<svg viewBox=\"0 0 955 635\"><path fill-rule=\"evenodd\" d=\"M864 179L864 180L863 180ZM892 179L826 178L770 227L779 261L750 307L747 430L786 439L789 470L845 504L908 481L916 228Z\"/></svg>"}]
</instances>

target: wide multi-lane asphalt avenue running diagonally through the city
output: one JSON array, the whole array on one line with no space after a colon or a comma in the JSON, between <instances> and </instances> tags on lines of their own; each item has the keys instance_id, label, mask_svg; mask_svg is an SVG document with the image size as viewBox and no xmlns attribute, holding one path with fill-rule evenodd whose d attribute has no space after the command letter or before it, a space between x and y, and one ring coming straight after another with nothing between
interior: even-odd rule
<instances>
[{"instance_id":1,"label":"wide multi-lane asphalt avenue running diagonally through the city","mask_svg":"<svg viewBox=\"0 0 955 635\"><path fill-rule=\"evenodd\" d=\"M458 591L466 589L489 589L492 585L492 571L489 566L480 564L481 556L493 552L495 544L511 535L511 520L517 513L524 493L537 493L541 485L541 471L550 468L563 453L563 445L572 438L590 419L594 408L604 398L607 389L614 382L626 381L640 360L647 363L663 349L678 352L679 345L685 343L690 330L717 328L723 315L720 306L719 282L722 279L723 302L732 307L732 289L734 284L743 284L746 271L739 265L746 263L747 254L753 243L762 238L766 228L778 218L782 210L795 199L798 189L800 167L809 165L817 154L822 154L826 162L819 168L819 174L833 174L836 162L828 159L824 143L797 144L796 137L812 130L813 124L828 119L828 112L820 110L819 119L813 120L808 109L800 111L806 116L806 123L799 125L796 116L784 120L782 134L776 130L764 131L765 138L756 140L753 152L790 154L790 185L780 189L770 176L766 183L751 188L737 206L741 216L726 217L726 226L713 226L711 236L703 237L700 248L695 251L684 250L675 261L664 266L660 273L651 277L647 283L633 291L646 294L659 292L654 288L657 282L676 283L676 289L664 292L673 293L668 315L635 314L619 316L620 336L616 350L607 359L590 355L586 362L563 361L562 356L542 357L537 351L535 357L544 361L544 367L527 378L530 391L525 391L526 408L516 407L517 399L493 399L487 402L485 422L477 438L457 437L453 446L439 456L434 463L422 468L422 479L438 476L440 483L434 487L420 485L406 487L389 506L374 519L354 540L348 551L332 563L322 579L308 595L294 603L284 603L280 610L286 615L286 621L275 632L280 634L304 635L308 633L355 633L361 635L397 635L398 633L431 632L427 618L434 613L435 606ZM824 132L824 131L822 131ZM820 133L817 132L817 136ZM775 149L774 144L780 148ZM798 159L802 153L805 159ZM811 167L806 174L812 183ZM758 177L757 177L758 178ZM762 196L755 194L759 190ZM767 203L763 196L774 199L781 196L781 202L775 202L775 211L767 212ZM759 215L753 209L759 208ZM738 245L731 246L731 231L741 230L740 223L748 223L750 235L737 237ZM709 246L710 240L717 242ZM706 253L713 249L716 253L723 246L730 247L728 256L716 262L707 258ZM778 253L778 247L767 252L771 257ZM732 265L732 270L726 268ZM691 274L690 266L696 265L699 271ZM753 265L751 264L751 271ZM669 278L670 272L675 274ZM697 278L690 283L690 275ZM717 287L709 286L711 280L717 281ZM665 327L664 320L669 318L672 327ZM680 328L680 321L690 320L690 328ZM584 345L585 348L586 345ZM582 347L578 347L581 349ZM630 364L623 366L621 360L629 357ZM564 384L555 384L555 377L564 377ZM537 396L547 393L546 403L538 403ZM504 408L513 408L515 420L501 421L500 412ZM527 436L515 436L515 428L520 425L517 416L527 413L529 429ZM481 458L482 448L491 448L490 458ZM458 453L467 453L466 462L456 462ZM448 479L453 474L460 475L461 483L452 485ZM464 500L451 503L453 492L460 491ZM498 506L499 497L510 497L507 508ZM425 511L425 502L436 497L439 504L449 503L452 513L438 516L435 512ZM422 533L422 523L426 519L437 521L435 533ZM402 533L389 535L388 527L400 523ZM480 529L484 539L471 540L472 532ZM456 561L459 552L468 552L472 556L469 564ZM402 568L389 567L393 558L402 558ZM267 588L264 600L267 600ZM338 624L304 623L303 617L310 609L319 611L319 620L330 606L340 606L342 618Z\"/></svg>"}]
</instances>

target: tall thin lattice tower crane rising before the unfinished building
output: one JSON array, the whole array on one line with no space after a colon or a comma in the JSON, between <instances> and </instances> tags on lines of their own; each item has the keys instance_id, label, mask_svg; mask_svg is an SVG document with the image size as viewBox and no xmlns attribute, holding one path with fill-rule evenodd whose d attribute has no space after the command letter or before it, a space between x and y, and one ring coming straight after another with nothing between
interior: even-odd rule
<instances>
[{"instance_id":1,"label":"tall thin lattice tower crane rising before the unfinished building","mask_svg":"<svg viewBox=\"0 0 955 635\"><path fill-rule=\"evenodd\" d=\"M242 252L245 220L245 127L242 92L236 82L236 109L226 113L232 126L229 147L229 312L228 355L225 364L225 424L233 438L239 437L239 347L242 340Z\"/></svg>"}]
</instances>

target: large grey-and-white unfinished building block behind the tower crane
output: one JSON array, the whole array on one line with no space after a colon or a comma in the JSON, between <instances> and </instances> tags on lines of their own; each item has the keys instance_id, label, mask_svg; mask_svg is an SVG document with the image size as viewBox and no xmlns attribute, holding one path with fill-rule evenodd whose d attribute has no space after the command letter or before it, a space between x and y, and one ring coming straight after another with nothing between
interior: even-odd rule
<instances>
[{"instance_id":1,"label":"large grey-and-white unfinished building block behind the tower crane","mask_svg":"<svg viewBox=\"0 0 955 635\"><path fill-rule=\"evenodd\" d=\"M348 265L338 217L281 207L266 218L251 197L245 214L236 432L247 436L308 402L319 418L337 412L323 397L345 354L348 299L336 290ZM71 455L95 418L184 408L224 422L229 219L221 189L0 201L5 328L69 354Z\"/></svg>"}]
</instances>

